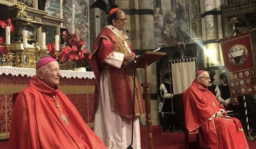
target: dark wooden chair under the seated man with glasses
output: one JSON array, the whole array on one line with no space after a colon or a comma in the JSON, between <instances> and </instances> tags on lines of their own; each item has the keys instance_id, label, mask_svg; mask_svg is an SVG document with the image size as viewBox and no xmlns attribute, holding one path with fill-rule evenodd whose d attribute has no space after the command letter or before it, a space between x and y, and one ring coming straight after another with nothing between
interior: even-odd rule
<instances>
[{"instance_id":1,"label":"dark wooden chair under the seated man with glasses","mask_svg":"<svg viewBox=\"0 0 256 149\"><path fill-rule=\"evenodd\" d=\"M184 114L184 106L183 106L183 93L179 94L179 101L180 101L180 107L181 107L181 130L185 133L185 149L189 149L189 133L186 129L185 125L185 114ZM200 142L199 142L199 133L196 134L196 148L200 148Z\"/></svg>"}]
</instances>

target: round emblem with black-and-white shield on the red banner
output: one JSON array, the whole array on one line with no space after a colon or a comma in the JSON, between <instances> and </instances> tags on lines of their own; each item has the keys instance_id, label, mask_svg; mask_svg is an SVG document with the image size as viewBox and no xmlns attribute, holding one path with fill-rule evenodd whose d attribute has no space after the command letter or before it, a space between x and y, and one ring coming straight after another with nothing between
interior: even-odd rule
<instances>
[{"instance_id":1,"label":"round emblem with black-and-white shield on the red banner","mask_svg":"<svg viewBox=\"0 0 256 149\"><path fill-rule=\"evenodd\" d=\"M233 66L241 66L248 59L248 50L242 44L233 45L228 51L228 61Z\"/></svg>"}]
</instances>

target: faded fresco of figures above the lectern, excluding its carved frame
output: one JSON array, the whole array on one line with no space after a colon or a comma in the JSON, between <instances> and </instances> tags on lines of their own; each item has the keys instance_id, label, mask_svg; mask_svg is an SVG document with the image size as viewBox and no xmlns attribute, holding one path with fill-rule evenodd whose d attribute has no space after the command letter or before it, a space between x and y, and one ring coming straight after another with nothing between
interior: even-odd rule
<instances>
[{"instance_id":1,"label":"faded fresco of figures above the lectern, excluding its carved frame","mask_svg":"<svg viewBox=\"0 0 256 149\"><path fill-rule=\"evenodd\" d=\"M188 0L154 0L155 48L191 39Z\"/></svg>"}]
</instances>

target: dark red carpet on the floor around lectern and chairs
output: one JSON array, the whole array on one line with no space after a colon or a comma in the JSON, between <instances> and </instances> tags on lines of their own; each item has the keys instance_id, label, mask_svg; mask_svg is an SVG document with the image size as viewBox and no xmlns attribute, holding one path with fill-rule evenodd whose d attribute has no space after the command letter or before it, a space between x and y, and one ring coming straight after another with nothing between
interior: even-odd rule
<instances>
[{"instance_id":1,"label":"dark red carpet on the floor around lectern and chairs","mask_svg":"<svg viewBox=\"0 0 256 149\"><path fill-rule=\"evenodd\" d=\"M146 149L146 127L141 126L141 149ZM193 142L195 135L189 135L189 147L196 149ZM202 143L202 141L201 141ZM203 144L200 143L202 147ZM248 141L250 149L256 148L256 141ZM8 141L0 141L0 149L8 149ZM162 132L161 126L153 126L153 146L154 149L184 149L184 133L182 132Z\"/></svg>"}]
</instances>

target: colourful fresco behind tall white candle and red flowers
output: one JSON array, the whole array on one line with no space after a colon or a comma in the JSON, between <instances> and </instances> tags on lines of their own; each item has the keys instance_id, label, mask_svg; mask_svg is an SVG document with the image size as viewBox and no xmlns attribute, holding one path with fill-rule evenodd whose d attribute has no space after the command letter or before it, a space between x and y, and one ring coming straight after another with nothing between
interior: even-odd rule
<instances>
[{"instance_id":1,"label":"colourful fresco behind tall white candle and red flowers","mask_svg":"<svg viewBox=\"0 0 256 149\"><path fill-rule=\"evenodd\" d=\"M89 21L89 0L63 0L63 28L72 32L72 6L75 5L75 34L78 39L85 41L84 47L90 51L90 21ZM45 11L48 15L60 17L60 0L46 0Z\"/></svg>"}]
</instances>

